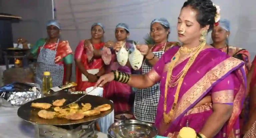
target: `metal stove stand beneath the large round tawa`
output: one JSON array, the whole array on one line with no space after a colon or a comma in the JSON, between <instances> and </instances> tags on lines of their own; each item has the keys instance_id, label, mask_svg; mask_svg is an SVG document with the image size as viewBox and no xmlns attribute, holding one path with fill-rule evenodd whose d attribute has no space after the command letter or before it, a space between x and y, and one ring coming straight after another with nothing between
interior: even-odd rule
<instances>
[{"instance_id":1,"label":"metal stove stand beneath the large round tawa","mask_svg":"<svg viewBox=\"0 0 256 138\"><path fill-rule=\"evenodd\" d=\"M68 125L68 129L63 126L40 125L35 126L35 138L98 138L95 133L96 120L86 122L78 127Z\"/></svg>"}]
</instances>

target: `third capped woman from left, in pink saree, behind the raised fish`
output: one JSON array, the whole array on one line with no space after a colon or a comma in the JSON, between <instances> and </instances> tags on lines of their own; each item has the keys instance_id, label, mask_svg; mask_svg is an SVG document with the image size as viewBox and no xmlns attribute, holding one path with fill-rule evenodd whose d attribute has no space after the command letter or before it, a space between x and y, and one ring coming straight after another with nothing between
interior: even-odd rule
<instances>
[{"instance_id":1,"label":"third capped woman from left, in pink saree, behind the raised fish","mask_svg":"<svg viewBox=\"0 0 256 138\"><path fill-rule=\"evenodd\" d=\"M107 41L104 47L109 47L111 49L111 53L108 54L107 59L111 59L109 65L105 66L105 73L109 73L111 70L119 70L122 72L126 72L131 74L131 67L125 65L121 66L117 62L117 55L116 52L119 51L120 47L124 44L128 50L132 50L132 47L126 43L127 37L129 37L129 27L127 24L119 23L115 29L115 38L116 42ZM87 44L89 45L89 44ZM108 49L108 48L107 48ZM109 49L109 50L110 50ZM134 48L133 48L134 49ZM94 57L103 58L103 51L102 49L94 49ZM133 99L132 99L132 88L120 82L112 81L104 86L104 93L103 97L113 101L114 103L114 111L115 114L119 114L122 112L130 113L132 109Z\"/></svg>"}]
</instances>

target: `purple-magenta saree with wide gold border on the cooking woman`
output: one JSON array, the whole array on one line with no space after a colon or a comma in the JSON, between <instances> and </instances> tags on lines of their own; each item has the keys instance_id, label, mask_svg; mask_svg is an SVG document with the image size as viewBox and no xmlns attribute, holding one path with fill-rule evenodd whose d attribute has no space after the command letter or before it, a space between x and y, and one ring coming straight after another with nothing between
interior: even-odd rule
<instances>
[{"instance_id":1,"label":"purple-magenta saree with wide gold border on the cooking woman","mask_svg":"<svg viewBox=\"0 0 256 138\"><path fill-rule=\"evenodd\" d=\"M179 47L176 46L166 51L153 68L161 77L161 94L155 119L159 135L176 137L180 129L187 126L187 122L189 127L197 133L200 132L213 113L212 104L221 103L233 105L233 113L215 138L239 137L239 114L246 92L244 62L215 48L207 48L199 53L184 77L173 118L170 123L164 123L163 108L167 68L178 49ZM179 63L173 69L174 76L186 65L188 57L178 61ZM168 88L166 113L172 107L176 88L177 85ZM205 97L211 97L211 102L195 107Z\"/></svg>"}]
</instances>

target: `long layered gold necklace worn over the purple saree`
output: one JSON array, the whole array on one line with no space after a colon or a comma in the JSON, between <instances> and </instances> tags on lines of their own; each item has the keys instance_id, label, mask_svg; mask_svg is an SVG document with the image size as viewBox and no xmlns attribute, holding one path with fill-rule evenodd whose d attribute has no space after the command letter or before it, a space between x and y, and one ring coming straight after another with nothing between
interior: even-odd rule
<instances>
[{"instance_id":1,"label":"long layered gold necklace worn over the purple saree","mask_svg":"<svg viewBox=\"0 0 256 138\"><path fill-rule=\"evenodd\" d=\"M184 46L180 47L180 49L174 55L174 57L172 58L172 60L170 62L170 65L169 65L168 71L167 71L165 91L164 91L164 113L163 113L163 116L164 116L164 122L166 124L169 123L172 120L173 116L174 116L174 109L175 109L175 106L176 106L177 101L178 101L180 87L183 83L184 77L187 74L188 69L194 63L197 55L204 48L205 44L206 44L206 42L203 41L199 46L197 46L195 48L190 48L189 49L189 48L184 47ZM181 54L188 54L188 53L191 53L191 52L194 52L194 51L195 51L195 54L190 56L187 64L184 66L184 68L177 75L174 76L172 70L173 70L176 62L179 60L180 55ZM168 86L172 88L172 87L175 87L177 84L178 84L178 86L177 86L177 89L176 89L176 92L175 92L175 97L174 97L174 102L172 104L172 108L169 111L169 113L166 113L166 103L167 103L166 101L167 101Z\"/></svg>"}]
</instances>

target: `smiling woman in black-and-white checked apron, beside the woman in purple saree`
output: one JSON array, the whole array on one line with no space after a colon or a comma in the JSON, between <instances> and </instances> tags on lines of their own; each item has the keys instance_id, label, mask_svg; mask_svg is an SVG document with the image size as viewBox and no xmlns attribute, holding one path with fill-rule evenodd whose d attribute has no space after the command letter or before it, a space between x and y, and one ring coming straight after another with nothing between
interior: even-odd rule
<instances>
[{"instance_id":1,"label":"smiling woman in black-and-white checked apron, beside the woman in purple saree","mask_svg":"<svg viewBox=\"0 0 256 138\"><path fill-rule=\"evenodd\" d=\"M172 46L179 45L178 42L168 42L170 24L165 18L154 19L150 24L150 37L155 45L139 46L138 49L146 53L142 64L142 74L149 72L159 58ZM144 47L144 48L143 48ZM159 100L159 83L146 89L137 89L134 102L134 117L141 121L155 122L156 109Z\"/></svg>"}]
</instances>

